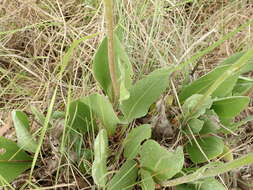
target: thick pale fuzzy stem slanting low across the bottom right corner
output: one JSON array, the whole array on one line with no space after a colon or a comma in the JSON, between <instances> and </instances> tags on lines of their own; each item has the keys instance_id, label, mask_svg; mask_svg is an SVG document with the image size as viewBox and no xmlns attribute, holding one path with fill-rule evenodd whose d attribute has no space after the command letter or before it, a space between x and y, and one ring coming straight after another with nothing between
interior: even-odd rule
<instances>
[{"instance_id":1,"label":"thick pale fuzzy stem slanting low across the bottom right corner","mask_svg":"<svg viewBox=\"0 0 253 190\"><path fill-rule=\"evenodd\" d=\"M161 183L161 185L163 187L172 187L172 186L200 180L203 178L214 177L222 173L228 172L230 170L239 168L244 165L252 164L252 163L253 163L253 153L250 153L234 161L217 165L216 167L210 166L210 168L208 168L208 166L203 166L202 168L200 168L199 170L197 170L196 172L190 175L163 182Z\"/></svg>"}]
</instances>

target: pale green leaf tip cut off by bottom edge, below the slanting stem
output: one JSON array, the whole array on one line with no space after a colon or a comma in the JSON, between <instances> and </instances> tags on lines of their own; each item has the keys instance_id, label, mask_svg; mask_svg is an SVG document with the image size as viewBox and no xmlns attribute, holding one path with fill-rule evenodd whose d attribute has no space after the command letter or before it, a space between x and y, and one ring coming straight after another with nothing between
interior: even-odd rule
<instances>
[{"instance_id":1,"label":"pale green leaf tip cut off by bottom edge, below the slanting stem","mask_svg":"<svg viewBox=\"0 0 253 190\"><path fill-rule=\"evenodd\" d=\"M227 190L219 181L214 178L207 178L200 182L199 190Z\"/></svg>"}]
</instances>

